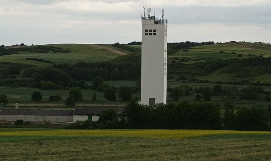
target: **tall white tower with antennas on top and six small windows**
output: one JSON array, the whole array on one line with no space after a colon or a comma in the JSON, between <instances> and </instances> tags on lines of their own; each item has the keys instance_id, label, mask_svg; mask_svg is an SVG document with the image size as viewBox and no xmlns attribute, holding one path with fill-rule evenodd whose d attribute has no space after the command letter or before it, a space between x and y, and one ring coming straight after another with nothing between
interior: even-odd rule
<instances>
[{"instance_id":1,"label":"tall white tower with antennas on top and six small windows","mask_svg":"<svg viewBox=\"0 0 271 161\"><path fill-rule=\"evenodd\" d=\"M142 15L141 101L153 107L167 103L167 19Z\"/></svg>"}]
</instances>

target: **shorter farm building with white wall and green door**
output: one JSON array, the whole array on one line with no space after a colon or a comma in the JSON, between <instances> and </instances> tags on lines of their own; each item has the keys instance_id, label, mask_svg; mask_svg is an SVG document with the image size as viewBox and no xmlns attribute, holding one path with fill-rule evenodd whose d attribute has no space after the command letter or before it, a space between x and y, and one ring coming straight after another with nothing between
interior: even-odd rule
<instances>
[{"instance_id":1,"label":"shorter farm building with white wall and green door","mask_svg":"<svg viewBox=\"0 0 271 161\"><path fill-rule=\"evenodd\" d=\"M114 109L118 115L122 115L124 108L108 108L108 107L79 107L74 110L73 121L98 121L99 115L103 111Z\"/></svg>"}]
</instances>

